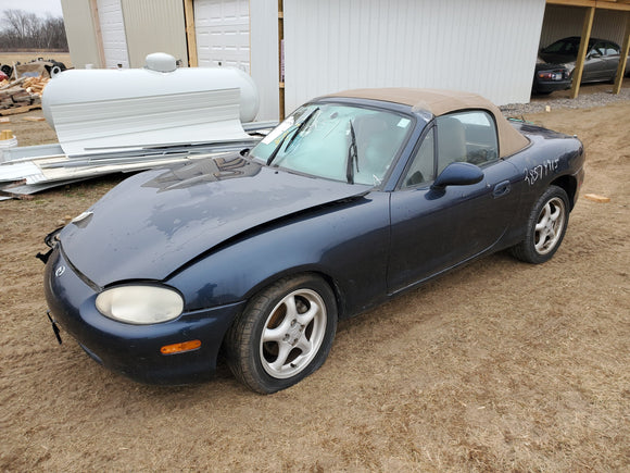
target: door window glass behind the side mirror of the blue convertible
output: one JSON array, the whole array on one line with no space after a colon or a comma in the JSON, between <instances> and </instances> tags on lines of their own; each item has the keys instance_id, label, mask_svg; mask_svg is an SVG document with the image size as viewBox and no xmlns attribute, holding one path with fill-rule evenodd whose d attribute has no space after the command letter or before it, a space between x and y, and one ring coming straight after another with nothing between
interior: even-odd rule
<instances>
[{"instance_id":1,"label":"door window glass behind the side mirror of the blue convertible","mask_svg":"<svg viewBox=\"0 0 630 473\"><path fill-rule=\"evenodd\" d=\"M497 159L496 126L488 112L452 113L437 123L438 174L455 161L480 165Z\"/></svg>"}]
</instances>

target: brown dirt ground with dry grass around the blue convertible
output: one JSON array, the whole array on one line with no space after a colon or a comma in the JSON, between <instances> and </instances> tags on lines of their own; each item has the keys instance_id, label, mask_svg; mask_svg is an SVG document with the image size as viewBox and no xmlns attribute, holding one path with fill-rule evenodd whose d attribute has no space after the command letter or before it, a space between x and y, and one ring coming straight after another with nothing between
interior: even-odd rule
<instances>
[{"instance_id":1,"label":"brown dirt ground with dry grass around the blue convertible","mask_svg":"<svg viewBox=\"0 0 630 473\"><path fill-rule=\"evenodd\" d=\"M21 145L54 140L23 116ZM551 262L495 254L341 322L325 365L266 397L225 366L139 385L56 344L34 256L121 177L0 202L0 470L628 471L628 116L630 102L526 116L588 152Z\"/></svg>"}]
</instances>

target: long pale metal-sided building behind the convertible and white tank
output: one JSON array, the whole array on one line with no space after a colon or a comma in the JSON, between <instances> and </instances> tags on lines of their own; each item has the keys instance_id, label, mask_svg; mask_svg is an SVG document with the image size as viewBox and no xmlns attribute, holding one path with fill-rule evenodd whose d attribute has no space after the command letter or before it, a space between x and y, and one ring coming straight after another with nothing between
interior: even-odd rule
<instances>
[{"instance_id":1,"label":"long pale metal-sided building behind the convertible and white tank","mask_svg":"<svg viewBox=\"0 0 630 473\"><path fill-rule=\"evenodd\" d=\"M259 120L358 87L430 87L528 102L540 47L627 41L630 0L62 0L75 67L237 66ZM590 23L590 24L589 24Z\"/></svg>"}]
</instances>

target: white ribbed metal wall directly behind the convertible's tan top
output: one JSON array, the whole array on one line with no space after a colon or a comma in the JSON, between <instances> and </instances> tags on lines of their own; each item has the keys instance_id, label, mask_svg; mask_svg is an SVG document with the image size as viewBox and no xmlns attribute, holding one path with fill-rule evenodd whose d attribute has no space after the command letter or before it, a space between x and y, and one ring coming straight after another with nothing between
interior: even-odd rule
<instances>
[{"instance_id":1,"label":"white ribbed metal wall directly behind the convertible's tan top","mask_svg":"<svg viewBox=\"0 0 630 473\"><path fill-rule=\"evenodd\" d=\"M356 87L527 102L544 0L285 2L286 109Z\"/></svg>"}]
</instances>

